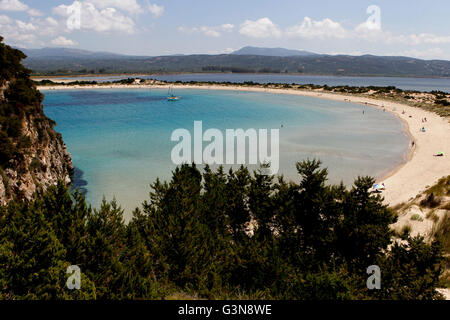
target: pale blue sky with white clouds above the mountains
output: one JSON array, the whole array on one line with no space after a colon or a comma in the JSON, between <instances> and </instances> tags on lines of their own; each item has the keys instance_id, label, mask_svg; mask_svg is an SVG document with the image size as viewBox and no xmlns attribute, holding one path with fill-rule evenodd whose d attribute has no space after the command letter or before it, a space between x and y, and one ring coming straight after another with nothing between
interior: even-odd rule
<instances>
[{"instance_id":1,"label":"pale blue sky with white clouds above the mountains","mask_svg":"<svg viewBox=\"0 0 450 320\"><path fill-rule=\"evenodd\" d=\"M449 17L448 0L0 0L0 36L147 56L258 46L450 60Z\"/></svg>"}]
</instances>

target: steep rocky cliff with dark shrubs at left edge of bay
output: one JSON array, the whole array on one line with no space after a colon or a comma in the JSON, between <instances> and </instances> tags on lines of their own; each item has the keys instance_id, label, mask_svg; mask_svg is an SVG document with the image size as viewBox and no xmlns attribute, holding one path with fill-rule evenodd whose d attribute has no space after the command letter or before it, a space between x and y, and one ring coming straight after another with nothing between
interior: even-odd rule
<instances>
[{"instance_id":1,"label":"steep rocky cliff with dark shrubs at left edge of bay","mask_svg":"<svg viewBox=\"0 0 450 320\"><path fill-rule=\"evenodd\" d=\"M70 184L72 160L42 107L42 94L22 66L25 55L0 37L0 205Z\"/></svg>"}]
</instances>

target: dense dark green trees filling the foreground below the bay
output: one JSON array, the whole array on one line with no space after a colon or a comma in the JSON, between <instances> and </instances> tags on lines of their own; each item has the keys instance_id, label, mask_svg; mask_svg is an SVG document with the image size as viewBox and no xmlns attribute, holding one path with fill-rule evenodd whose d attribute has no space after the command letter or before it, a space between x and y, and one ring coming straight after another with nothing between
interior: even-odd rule
<instances>
[{"instance_id":1,"label":"dense dark green trees filling the foreground below the bay","mask_svg":"<svg viewBox=\"0 0 450 320\"><path fill-rule=\"evenodd\" d=\"M156 181L125 224L113 201L92 210L63 185L0 208L3 299L434 299L438 242L404 235L362 177L327 185L318 161L286 183L247 169L183 165ZM253 226L253 227L252 227ZM69 265L82 271L68 290ZM366 269L381 268L381 290Z\"/></svg>"}]
</instances>

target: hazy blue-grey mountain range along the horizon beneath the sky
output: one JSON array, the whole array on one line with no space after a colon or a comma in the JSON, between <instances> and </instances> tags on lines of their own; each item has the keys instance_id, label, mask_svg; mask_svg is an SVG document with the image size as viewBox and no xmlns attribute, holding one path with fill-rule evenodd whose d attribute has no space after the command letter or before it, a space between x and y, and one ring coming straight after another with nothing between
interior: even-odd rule
<instances>
[{"instance_id":1,"label":"hazy blue-grey mountain range along the horizon beneath the sky","mask_svg":"<svg viewBox=\"0 0 450 320\"><path fill-rule=\"evenodd\" d=\"M343 76L450 77L450 61L373 55L326 55L244 47L231 54L127 56L67 48L23 50L35 74L233 72Z\"/></svg>"}]
</instances>

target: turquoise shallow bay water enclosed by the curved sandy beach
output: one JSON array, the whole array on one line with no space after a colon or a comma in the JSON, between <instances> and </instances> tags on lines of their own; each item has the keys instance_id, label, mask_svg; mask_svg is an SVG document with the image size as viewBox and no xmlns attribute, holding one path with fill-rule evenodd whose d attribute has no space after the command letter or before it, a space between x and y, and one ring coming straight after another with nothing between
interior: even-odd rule
<instances>
[{"instance_id":1,"label":"turquoise shallow bay water enclosed by the curved sandy beach","mask_svg":"<svg viewBox=\"0 0 450 320\"><path fill-rule=\"evenodd\" d=\"M88 201L97 207L103 196L115 197L128 214L148 199L150 183L170 178L171 134L193 133L194 121L224 135L225 129L280 129L280 173L296 181L295 162L308 157L324 162L331 182L379 177L405 160L410 144L392 114L325 99L188 89L176 92L178 102L156 89L44 94L45 113L58 124Z\"/></svg>"}]
</instances>

